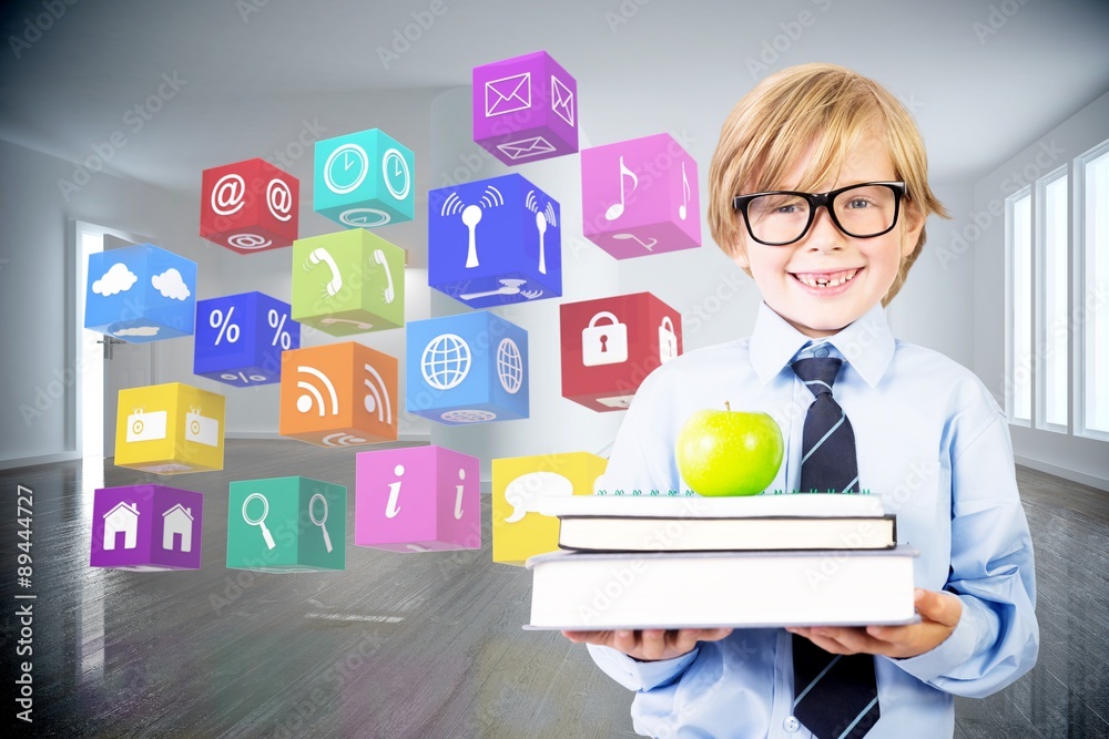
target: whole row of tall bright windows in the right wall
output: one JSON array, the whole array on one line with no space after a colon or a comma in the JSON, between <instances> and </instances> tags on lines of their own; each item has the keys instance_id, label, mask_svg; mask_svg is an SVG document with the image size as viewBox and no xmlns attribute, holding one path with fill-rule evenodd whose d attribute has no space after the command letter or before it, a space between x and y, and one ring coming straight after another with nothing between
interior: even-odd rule
<instances>
[{"instance_id":1,"label":"whole row of tall bright windows in the right wall","mask_svg":"<svg viewBox=\"0 0 1109 739\"><path fill-rule=\"evenodd\" d=\"M1109 441L1109 141L1005 213L1009 422Z\"/></svg>"}]
</instances>

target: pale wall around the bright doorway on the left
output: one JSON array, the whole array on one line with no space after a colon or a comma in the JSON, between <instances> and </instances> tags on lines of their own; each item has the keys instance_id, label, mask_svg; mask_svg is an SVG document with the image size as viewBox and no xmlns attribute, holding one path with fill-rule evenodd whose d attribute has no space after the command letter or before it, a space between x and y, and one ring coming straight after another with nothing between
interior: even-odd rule
<instances>
[{"instance_id":1,"label":"pale wall around the bright doorway on the left","mask_svg":"<svg viewBox=\"0 0 1109 739\"><path fill-rule=\"evenodd\" d=\"M68 411L77 390L65 336L75 298L67 274L68 220L143 234L195 260L200 299L220 295L220 247L196 235L199 211L183 208L169 192L101 172L67 202L58 181L73 178L73 164L3 141L0 172L0 259L7 260L0 261L0 464L51 461L74 443ZM160 381L177 374L175 366L187 363L191 372L191 338L155 346L159 367L170 368ZM24 421L23 404L42 415Z\"/></svg>"}]
</instances>

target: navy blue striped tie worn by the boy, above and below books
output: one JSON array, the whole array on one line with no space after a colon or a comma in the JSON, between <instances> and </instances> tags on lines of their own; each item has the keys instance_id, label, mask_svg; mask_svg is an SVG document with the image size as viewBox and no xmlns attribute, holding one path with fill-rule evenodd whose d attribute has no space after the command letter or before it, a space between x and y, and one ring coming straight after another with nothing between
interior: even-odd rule
<instances>
[{"instance_id":1,"label":"navy blue striped tie worn by the boy, above and below books","mask_svg":"<svg viewBox=\"0 0 1109 739\"><path fill-rule=\"evenodd\" d=\"M801 443L801 490L858 492L855 432L832 386L843 362L798 359L793 371L813 396ZM833 655L793 637L793 715L817 739L862 739L878 720L878 689L871 655Z\"/></svg>"}]
</instances>

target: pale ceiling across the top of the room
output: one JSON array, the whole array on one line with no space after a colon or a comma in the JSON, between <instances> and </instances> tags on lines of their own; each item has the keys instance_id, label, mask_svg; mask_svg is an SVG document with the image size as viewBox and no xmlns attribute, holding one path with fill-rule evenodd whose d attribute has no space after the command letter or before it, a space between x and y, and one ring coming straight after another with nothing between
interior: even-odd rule
<instances>
[{"instance_id":1,"label":"pale ceiling across the top of the room","mask_svg":"<svg viewBox=\"0 0 1109 739\"><path fill-rule=\"evenodd\" d=\"M48 3L64 14L24 35L48 25ZM1107 0L37 0L2 13L0 138L77 162L116 134L108 171L193 197L201 170L269 158L305 121L323 137L381 127L419 155L436 94L540 49L577 79L594 145L670 132L705 168L763 53L769 71L831 61L883 82L917 117L936 183L974 182L1109 90ZM414 18L428 28L386 69L378 48L417 35ZM128 111L174 73L184 85L134 131Z\"/></svg>"}]
</instances>

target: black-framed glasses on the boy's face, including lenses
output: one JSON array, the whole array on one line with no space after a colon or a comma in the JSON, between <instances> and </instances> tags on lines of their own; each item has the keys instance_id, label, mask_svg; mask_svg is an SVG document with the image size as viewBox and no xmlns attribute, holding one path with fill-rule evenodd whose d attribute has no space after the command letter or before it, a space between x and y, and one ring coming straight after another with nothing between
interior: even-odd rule
<instances>
[{"instance_id":1,"label":"black-framed glasses on the boy's face, including lenses","mask_svg":"<svg viewBox=\"0 0 1109 739\"><path fill-rule=\"evenodd\" d=\"M826 193L777 189L737 195L732 208L743 214L751 238L766 246L785 246L808 233L822 205L836 228L847 236L873 238L887 234L897 224L904 195L904 182L864 182Z\"/></svg>"}]
</instances>

